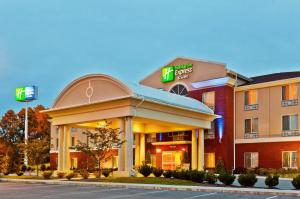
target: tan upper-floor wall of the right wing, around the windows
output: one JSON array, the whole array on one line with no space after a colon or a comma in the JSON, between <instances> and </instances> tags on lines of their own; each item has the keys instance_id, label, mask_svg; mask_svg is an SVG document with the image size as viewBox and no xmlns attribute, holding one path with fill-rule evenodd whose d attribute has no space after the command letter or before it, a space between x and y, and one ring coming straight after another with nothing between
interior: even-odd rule
<instances>
[{"instance_id":1,"label":"tan upper-floor wall of the right wing, around the windows","mask_svg":"<svg viewBox=\"0 0 300 199\"><path fill-rule=\"evenodd\" d=\"M298 114L300 116L300 83L298 83L298 105L281 106L282 85L258 88L258 110L244 110L244 91L236 92L236 138L244 138L245 119L258 118L259 136L280 135L282 133L282 116ZM298 117L300 124L300 117Z\"/></svg>"}]
</instances>

